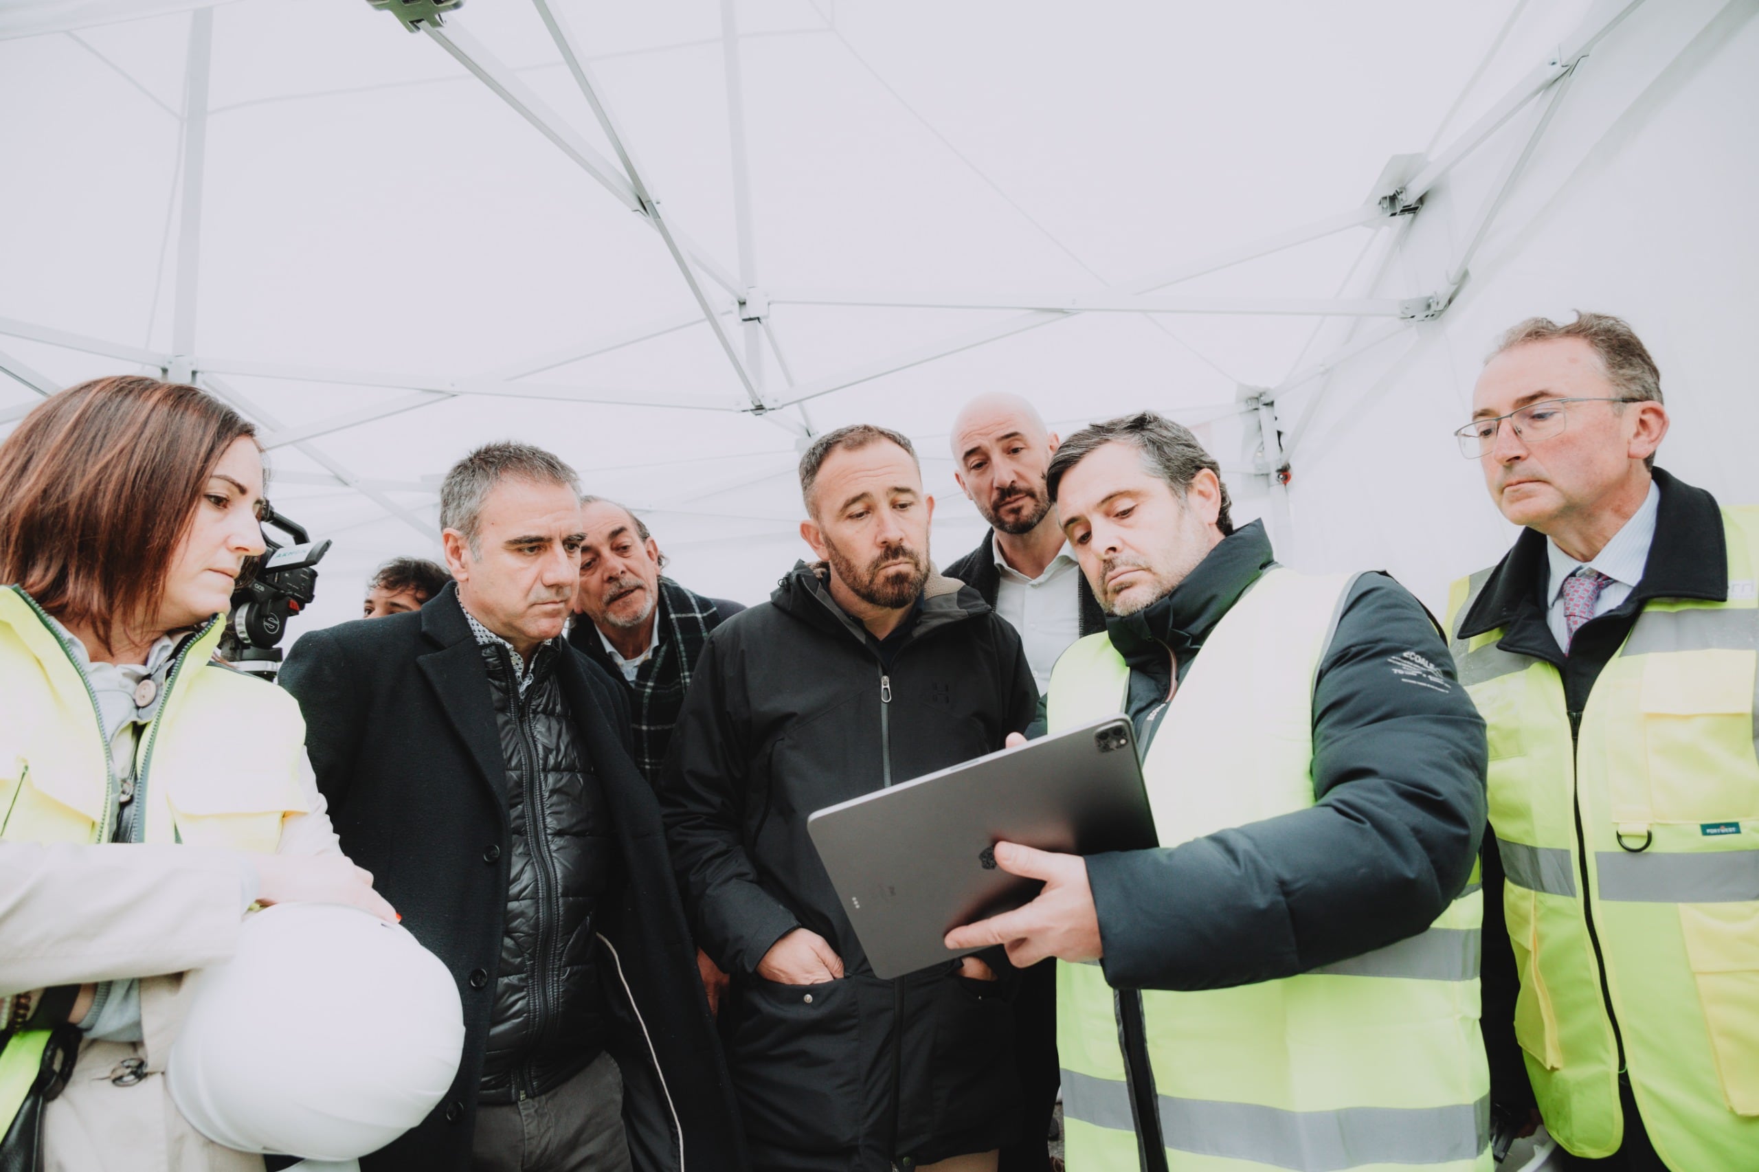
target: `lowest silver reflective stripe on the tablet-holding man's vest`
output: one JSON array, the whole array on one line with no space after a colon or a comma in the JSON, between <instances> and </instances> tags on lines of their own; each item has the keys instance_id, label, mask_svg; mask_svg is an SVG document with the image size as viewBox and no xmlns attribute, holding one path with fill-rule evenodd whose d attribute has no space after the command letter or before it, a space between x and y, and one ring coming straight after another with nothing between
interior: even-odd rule
<instances>
[{"instance_id":1,"label":"lowest silver reflective stripe on the tablet-holding man's vest","mask_svg":"<svg viewBox=\"0 0 1759 1172\"><path fill-rule=\"evenodd\" d=\"M1344 1107L1282 1110L1159 1096L1161 1135L1173 1151L1249 1160L1300 1172L1342 1172L1369 1163L1476 1160L1490 1146L1490 1100L1451 1107ZM1135 1132L1122 1082L1062 1072L1062 1114Z\"/></svg>"}]
</instances>

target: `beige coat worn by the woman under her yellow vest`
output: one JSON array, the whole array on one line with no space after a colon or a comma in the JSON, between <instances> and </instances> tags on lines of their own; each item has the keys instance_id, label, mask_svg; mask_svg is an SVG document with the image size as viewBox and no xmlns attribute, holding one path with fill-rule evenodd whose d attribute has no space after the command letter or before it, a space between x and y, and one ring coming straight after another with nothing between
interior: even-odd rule
<instances>
[{"instance_id":1,"label":"beige coat worn by the woman under her yellow vest","mask_svg":"<svg viewBox=\"0 0 1759 1172\"><path fill-rule=\"evenodd\" d=\"M308 785L311 813L287 818L280 853L339 853ZM46 1172L262 1172L262 1156L195 1133L164 1079L186 1010L185 973L232 956L245 894L230 852L0 843L0 993L144 978L144 1042L79 1047L67 1089L44 1112ZM111 1077L128 1058L142 1058L148 1073L118 1086Z\"/></svg>"}]
</instances>

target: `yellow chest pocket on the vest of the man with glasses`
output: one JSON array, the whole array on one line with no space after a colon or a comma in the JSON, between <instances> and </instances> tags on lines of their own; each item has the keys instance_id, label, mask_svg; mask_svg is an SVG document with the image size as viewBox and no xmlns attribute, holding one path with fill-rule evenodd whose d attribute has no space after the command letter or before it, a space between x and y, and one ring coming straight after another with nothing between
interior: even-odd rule
<instances>
[{"instance_id":1,"label":"yellow chest pocket on the vest of the man with glasses","mask_svg":"<svg viewBox=\"0 0 1759 1172\"><path fill-rule=\"evenodd\" d=\"M1759 818L1752 651L1650 655L1639 706L1657 822Z\"/></svg>"}]
</instances>

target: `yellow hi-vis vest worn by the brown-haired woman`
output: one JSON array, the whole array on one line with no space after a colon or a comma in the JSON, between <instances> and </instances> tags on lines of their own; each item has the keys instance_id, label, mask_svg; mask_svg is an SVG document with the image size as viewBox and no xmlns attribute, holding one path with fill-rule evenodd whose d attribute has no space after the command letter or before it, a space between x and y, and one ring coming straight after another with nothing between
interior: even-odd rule
<instances>
[{"instance_id":1,"label":"yellow hi-vis vest worn by the brown-haired woman","mask_svg":"<svg viewBox=\"0 0 1759 1172\"><path fill-rule=\"evenodd\" d=\"M135 744L137 832L148 843L273 853L281 820L308 811L304 720L280 688L211 667L218 642L215 619L179 649ZM107 843L120 783L77 660L30 595L0 588L0 841ZM42 1029L18 1033L0 1051L0 1133L46 1040Z\"/></svg>"}]
</instances>

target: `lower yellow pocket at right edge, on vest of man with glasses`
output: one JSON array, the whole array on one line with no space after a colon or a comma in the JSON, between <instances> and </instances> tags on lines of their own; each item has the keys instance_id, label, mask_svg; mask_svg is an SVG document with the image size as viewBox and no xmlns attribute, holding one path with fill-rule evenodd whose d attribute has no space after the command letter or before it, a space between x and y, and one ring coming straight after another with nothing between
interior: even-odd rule
<instances>
[{"instance_id":1,"label":"lower yellow pocket at right edge, on vest of man with glasses","mask_svg":"<svg viewBox=\"0 0 1759 1172\"><path fill-rule=\"evenodd\" d=\"M1759 903L1682 903L1680 931L1722 1098L1759 1116Z\"/></svg>"}]
</instances>

